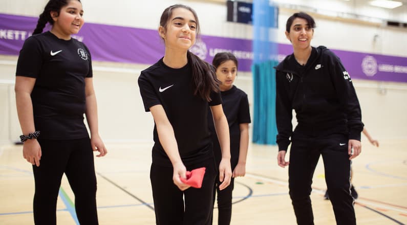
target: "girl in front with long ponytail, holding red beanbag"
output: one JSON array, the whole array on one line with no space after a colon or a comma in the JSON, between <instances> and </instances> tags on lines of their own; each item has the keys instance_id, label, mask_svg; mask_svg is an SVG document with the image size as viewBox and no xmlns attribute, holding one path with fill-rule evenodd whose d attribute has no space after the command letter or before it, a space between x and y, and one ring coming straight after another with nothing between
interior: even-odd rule
<instances>
[{"instance_id":1,"label":"girl in front with long ponytail, holding red beanbag","mask_svg":"<svg viewBox=\"0 0 407 225\"><path fill-rule=\"evenodd\" d=\"M150 179L157 224L211 224L213 185L230 183L229 129L222 109L219 80L211 65L188 49L199 35L197 14L184 5L166 8L158 28L165 54L138 79L145 111L154 126ZM210 107L222 159L215 164L208 130ZM205 167L201 188L181 181L186 171ZM185 199L185 201L184 201Z\"/></svg>"}]
</instances>

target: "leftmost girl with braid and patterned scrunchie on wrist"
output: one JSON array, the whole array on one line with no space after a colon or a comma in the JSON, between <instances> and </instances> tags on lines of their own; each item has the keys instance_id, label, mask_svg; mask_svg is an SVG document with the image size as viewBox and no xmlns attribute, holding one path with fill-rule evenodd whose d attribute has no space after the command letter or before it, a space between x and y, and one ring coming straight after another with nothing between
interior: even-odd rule
<instances>
[{"instance_id":1,"label":"leftmost girl with braid and patterned scrunchie on wrist","mask_svg":"<svg viewBox=\"0 0 407 225\"><path fill-rule=\"evenodd\" d=\"M91 55L71 37L82 27L82 16L79 0L50 0L17 61L16 104L23 156L33 165L35 224L56 224L63 173L79 223L98 224L93 151L104 156L107 150L98 133ZM42 33L47 22L52 28Z\"/></svg>"}]
</instances>

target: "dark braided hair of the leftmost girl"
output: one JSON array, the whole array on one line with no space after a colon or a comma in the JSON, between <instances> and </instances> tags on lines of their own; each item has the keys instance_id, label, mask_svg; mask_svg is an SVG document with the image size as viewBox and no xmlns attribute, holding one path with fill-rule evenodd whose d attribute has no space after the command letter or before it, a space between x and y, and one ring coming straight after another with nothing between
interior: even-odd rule
<instances>
[{"instance_id":1,"label":"dark braided hair of the leftmost girl","mask_svg":"<svg viewBox=\"0 0 407 225\"><path fill-rule=\"evenodd\" d=\"M37 22L37 27L35 28L34 32L32 34L40 34L42 33L42 30L44 30L45 25L47 25L47 22L49 22L51 25L54 25L54 19L51 17L51 11L59 12L61 11L61 8L68 5L70 1L74 0L50 0L48 1L47 5L44 8L44 11L42 11L41 14L39 14L38 22ZM75 0L80 2L80 0Z\"/></svg>"}]
</instances>

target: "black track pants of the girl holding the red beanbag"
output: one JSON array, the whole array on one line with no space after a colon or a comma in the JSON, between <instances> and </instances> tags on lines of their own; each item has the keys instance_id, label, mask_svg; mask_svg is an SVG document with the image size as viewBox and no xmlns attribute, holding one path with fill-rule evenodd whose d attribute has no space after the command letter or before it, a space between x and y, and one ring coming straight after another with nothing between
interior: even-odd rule
<instances>
[{"instance_id":1,"label":"black track pants of the girl holding the red beanbag","mask_svg":"<svg viewBox=\"0 0 407 225\"><path fill-rule=\"evenodd\" d=\"M163 167L154 163L151 165L150 179L154 211L156 223L159 225L211 224L213 185L217 174L215 160L211 158L185 166L188 171L206 167L201 188L190 187L181 191L173 182L172 167Z\"/></svg>"}]
</instances>

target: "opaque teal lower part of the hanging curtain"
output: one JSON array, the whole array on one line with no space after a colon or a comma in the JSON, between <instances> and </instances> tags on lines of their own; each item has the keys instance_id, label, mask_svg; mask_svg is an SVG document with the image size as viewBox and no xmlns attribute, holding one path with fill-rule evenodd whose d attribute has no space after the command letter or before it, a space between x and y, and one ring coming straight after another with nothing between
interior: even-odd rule
<instances>
[{"instance_id":1,"label":"opaque teal lower part of the hanging curtain","mask_svg":"<svg viewBox=\"0 0 407 225\"><path fill-rule=\"evenodd\" d=\"M277 61L252 65L253 73L253 143L275 144L275 70Z\"/></svg>"}]
</instances>

